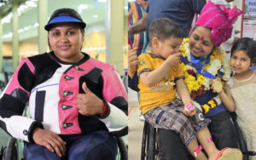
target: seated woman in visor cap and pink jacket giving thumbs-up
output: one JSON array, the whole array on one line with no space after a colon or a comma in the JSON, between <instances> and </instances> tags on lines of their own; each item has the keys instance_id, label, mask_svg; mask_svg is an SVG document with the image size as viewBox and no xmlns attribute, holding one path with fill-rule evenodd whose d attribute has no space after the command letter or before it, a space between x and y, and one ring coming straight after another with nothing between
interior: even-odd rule
<instances>
[{"instance_id":1,"label":"seated woman in visor cap and pink jacket giving thumbs-up","mask_svg":"<svg viewBox=\"0 0 256 160\"><path fill-rule=\"evenodd\" d=\"M22 59L2 94L0 126L25 141L26 160L114 159L111 134L127 134L125 87L113 66L81 52L85 26L75 10L55 10L50 52Z\"/></svg>"}]
</instances>

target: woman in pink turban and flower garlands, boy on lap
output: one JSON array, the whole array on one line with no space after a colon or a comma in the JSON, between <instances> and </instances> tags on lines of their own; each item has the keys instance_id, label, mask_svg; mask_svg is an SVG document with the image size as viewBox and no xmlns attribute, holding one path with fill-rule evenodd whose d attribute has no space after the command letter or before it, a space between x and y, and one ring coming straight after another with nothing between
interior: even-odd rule
<instances>
[{"instance_id":1,"label":"woman in pink turban and flower garlands, boy on lap","mask_svg":"<svg viewBox=\"0 0 256 160\"><path fill-rule=\"evenodd\" d=\"M230 121L230 109L212 91L210 80L218 77L224 83L230 78L230 62L224 49L219 46L231 36L232 24L240 14L242 12L236 7L226 9L224 5L208 1L194 31L189 38L183 40L180 47L184 82L189 89L192 104L211 119L208 129L218 150L225 150L226 147L238 148L236 130ZM186 148L180 144L181 140L173 140L178 138L177 132L171 134L169 130L160 130L160 158L189 159Z\"/></svg>"}]
</instances>

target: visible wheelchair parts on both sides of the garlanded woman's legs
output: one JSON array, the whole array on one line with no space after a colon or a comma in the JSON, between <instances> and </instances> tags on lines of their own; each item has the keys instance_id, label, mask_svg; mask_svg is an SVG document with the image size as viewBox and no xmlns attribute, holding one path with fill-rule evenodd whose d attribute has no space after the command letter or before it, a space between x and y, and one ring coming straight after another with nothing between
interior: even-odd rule
<instances>
[{"instance_id":1,"label":"visible wheelchair parts on both sides of the garlanded woman's legs","mask_svg":"<svg viewBox=\"0 0 256 160\"><path fill-rule=\"evenodd\" d=\"M230 113L230 115L238 135L239 149L242 152L242 159L248 160L249 156L256 156L256 151L247 150L247 143L244 140L241 129L236 121L236 112L232 112ZM145 158L147 160L160 159L160 150L157 138L157 129L154 129L154 127L152 127L149 123L145 121L143 127L141 160L145 160Z\"/></svg>"}]
</instances>

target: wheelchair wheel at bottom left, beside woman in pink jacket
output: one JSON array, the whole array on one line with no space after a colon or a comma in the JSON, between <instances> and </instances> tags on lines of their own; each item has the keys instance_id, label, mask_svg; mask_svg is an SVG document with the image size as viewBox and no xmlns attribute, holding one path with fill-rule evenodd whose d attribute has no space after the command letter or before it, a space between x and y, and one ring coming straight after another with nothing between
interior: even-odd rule
<instances>
[{"instance_id":1,"label":"wheelchair wheel at bottom left, beside woman in pink jacket","mask_svg":"<svg viewBox=\"0 0 256 160\"><path fill-rule=\"evenodd\" d=\"M5 152L5 160L18 160L18 146L15 138L10 138Z\"/></svg>"}]
</instances>

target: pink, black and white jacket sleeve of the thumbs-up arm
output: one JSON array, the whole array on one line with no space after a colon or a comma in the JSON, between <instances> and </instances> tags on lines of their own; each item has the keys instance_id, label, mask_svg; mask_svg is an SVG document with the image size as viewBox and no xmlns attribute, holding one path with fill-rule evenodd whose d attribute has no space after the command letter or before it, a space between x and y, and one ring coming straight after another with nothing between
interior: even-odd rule
<instances>
[{"instance_id":1,"label":"pink, black and white jacket sleeve of the thumbs-up arm","mask_svg":"<svg viewBox=\"0 0 256 160\"><path fill-rule=\"evenodd\" d=\"M106 124L109 132L127 134L128 96L118 72L113 66L102 72L102 95L108 111L99 119Z\"/></svg>"}]
</instances>

